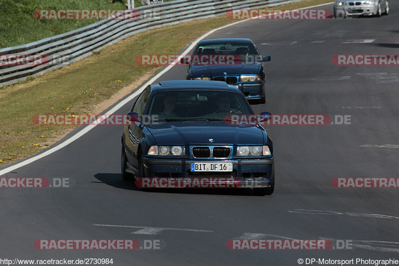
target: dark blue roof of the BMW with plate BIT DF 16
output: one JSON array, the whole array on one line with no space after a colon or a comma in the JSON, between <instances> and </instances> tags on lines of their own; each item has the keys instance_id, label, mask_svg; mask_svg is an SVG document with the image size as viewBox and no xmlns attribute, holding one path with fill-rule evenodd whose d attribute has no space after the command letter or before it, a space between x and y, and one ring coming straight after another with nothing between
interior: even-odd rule
<instances>
[{"instance_id":1,"label":"dark blue roof of the BMW with plate BIT DF 16","mask_svg":"<svg viewBox=\"0 0 399 266\"><path fill-rule=\"evenodd\" d=\"M240 92L241 91L232 86L228 85L224 81L215 80L165 80L160 81L159 84L151 85L153 92L165 91L165 90L188 90L188 89L201 89L201 90L223 90Z\"/></svg>"}]
</instances>

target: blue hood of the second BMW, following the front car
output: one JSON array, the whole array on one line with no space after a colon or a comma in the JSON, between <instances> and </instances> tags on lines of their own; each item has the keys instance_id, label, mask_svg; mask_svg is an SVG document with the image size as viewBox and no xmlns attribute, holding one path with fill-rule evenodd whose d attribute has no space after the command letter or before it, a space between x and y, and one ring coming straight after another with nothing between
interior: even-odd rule
<instances>
[{"instance_id":1,"label":"blue hood of the second BMW, following the front car","mask_svg":"<svg viewBox=\"0 0 399 266\"><path fill-rule=\"evenodd\" d=\"M190 75L192 77L257 75L261 66L259 62L243 62L236 65L191 65Z\"/></svg>"}]
</instances>

